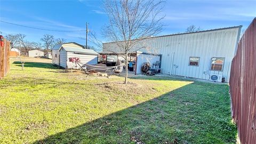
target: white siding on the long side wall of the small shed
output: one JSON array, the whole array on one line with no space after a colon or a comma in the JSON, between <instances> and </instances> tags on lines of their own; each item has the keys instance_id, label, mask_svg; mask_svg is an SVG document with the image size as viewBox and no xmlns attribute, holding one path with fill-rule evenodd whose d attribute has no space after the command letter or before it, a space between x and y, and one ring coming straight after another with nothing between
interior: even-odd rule
<instances>
[{"instance_id":1,"label":"white siding on the long side wall of the small shed","mask_svg":"<svg viewBox=\"0 0 256 144\"><path fill-rule=\"evenodd\" d=\"M74 52L67 52L67 60L72 57L77 57L82 63L87 63L89 65L95 65L98 63L98 55L89 54L77 54Z\"/></svg>"}]
</instances>

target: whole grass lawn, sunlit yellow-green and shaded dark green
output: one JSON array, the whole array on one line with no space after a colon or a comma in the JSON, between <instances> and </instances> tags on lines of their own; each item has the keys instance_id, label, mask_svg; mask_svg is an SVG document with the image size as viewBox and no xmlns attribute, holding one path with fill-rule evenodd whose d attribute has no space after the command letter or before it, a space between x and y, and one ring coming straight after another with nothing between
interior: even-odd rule
<instances>
[{"instance_id":1,"label":"whole grass lawn, sunlit yellow-green and shaded dark green","mask_svg":"<svg viewBox=\"0 0 256 144\"><path fill-rule=\"evenodd\" d=\"M0 81L0 143L236 143L228 85L123 79L12 63Z\"/></svg>"}]
</instances>

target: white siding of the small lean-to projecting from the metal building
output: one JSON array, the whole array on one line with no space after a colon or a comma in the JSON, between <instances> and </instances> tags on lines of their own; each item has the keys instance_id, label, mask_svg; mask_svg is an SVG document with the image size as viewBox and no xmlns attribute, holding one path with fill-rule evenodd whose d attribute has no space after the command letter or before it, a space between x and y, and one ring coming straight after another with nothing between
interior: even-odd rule
<instances>
[{"instance_id":1,"label":"white siding of the small lean-to projecting from the metal building","mask_svg":"<svg viewBox=\"0 0 256 144\"><path fill-rule=\"evenodd\" d=\"M151 68L153 68L153 63L160 60L160 56L149 55L149 54L139 54L137 56L137 69L136 74L141 74L141 67L144 62L149 62Z\"/></svg>"}]
</instances>

